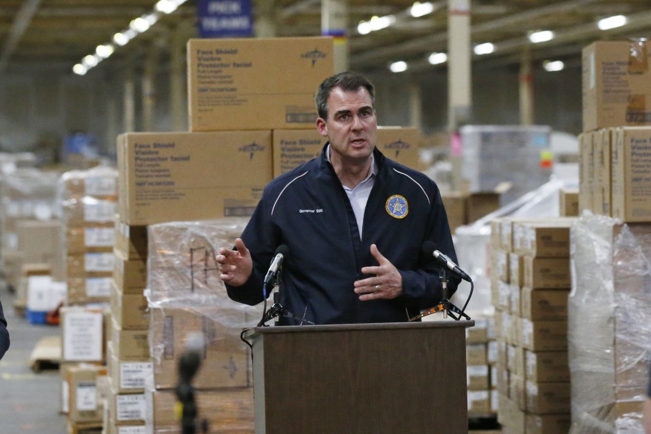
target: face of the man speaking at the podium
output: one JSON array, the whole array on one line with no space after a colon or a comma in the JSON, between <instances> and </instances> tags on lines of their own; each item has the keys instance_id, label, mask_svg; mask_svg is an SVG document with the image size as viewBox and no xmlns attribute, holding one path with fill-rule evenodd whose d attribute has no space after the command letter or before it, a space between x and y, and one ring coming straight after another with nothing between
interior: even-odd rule
<instances>
[{"instance_id":1,"label":"face of the man speaking at the podium","mask_svg":"<svg viewBox=\"0 0 651 434\"><path fill-rule=\"evenodd\" d=\"M376 144L378 120L367 89L344 92L335 87L327 104L327 119L318 118L316 128L328 137L331 152L348 161L368 158Z\"/></svg>"}]
</instances>

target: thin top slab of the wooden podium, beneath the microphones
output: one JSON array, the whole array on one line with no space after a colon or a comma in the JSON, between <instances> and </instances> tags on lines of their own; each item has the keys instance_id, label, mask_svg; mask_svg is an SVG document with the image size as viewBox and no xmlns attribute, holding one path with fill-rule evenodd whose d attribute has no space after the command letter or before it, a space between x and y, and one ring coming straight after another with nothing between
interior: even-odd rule
<instances>
[{"instance_id":1,"label":"thin top slab of the wooden podium, beneath the microphones","mask_svg":"<svg viewBox=\"0 0 651 434\"><path fill-rule=\"evenodd\" d=\"M415 328L467 328L475 325L475 321L422 321L415 323L368 323L368 324L331 324L303 326L269 326L254 327L246 330L244 336L249 337L258 333L305 333L305 332L342 332L350 330L396 330Z\"/></svg>"}]
</instances>

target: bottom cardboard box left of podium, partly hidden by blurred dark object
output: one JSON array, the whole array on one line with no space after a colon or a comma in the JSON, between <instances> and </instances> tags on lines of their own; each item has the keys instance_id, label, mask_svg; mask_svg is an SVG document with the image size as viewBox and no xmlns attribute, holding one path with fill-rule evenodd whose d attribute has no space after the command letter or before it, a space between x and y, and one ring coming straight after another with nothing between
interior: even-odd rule
<instances>
[{"instance_id":1,"label":"bottom cardboard box left of podium, partly hidden by blurred dark object","mask_svg":"<svg viewBox=\"0 0 651 434\"><path fill-rule=\"evenodd\" d=\"M167 433L178 429L174 417L174 390L154 390L154 432ZM195 399L199 414L208 420L214 433L252 433L254 431L253 388L197 390Z\"/></svg>"}]
</instances>

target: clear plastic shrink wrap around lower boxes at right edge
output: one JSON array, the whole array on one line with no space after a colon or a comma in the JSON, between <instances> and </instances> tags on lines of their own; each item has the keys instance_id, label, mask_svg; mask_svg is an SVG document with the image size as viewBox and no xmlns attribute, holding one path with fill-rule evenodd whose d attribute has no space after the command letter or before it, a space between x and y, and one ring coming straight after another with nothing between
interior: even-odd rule
<instances>
[{"instance_id":1,"label":"clear plastic shrink wrap around lower boxes at right edge","mask_svg":"<svg viewBox=\"0 0 651 434\"><path fill-rule=\"evenodd\" d=\"M572 433L644 433L651 225L584 211L570 232Z\"/></svg>"}]
</instances>

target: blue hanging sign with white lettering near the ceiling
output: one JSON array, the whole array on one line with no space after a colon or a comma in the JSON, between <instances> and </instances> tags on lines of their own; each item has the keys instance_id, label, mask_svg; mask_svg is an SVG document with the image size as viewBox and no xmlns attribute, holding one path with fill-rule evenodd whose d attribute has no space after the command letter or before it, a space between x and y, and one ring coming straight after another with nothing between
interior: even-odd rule
<instances>
[{"instance_id":1,"label":"blue hanging sign with white lettering near the ceiling","mask_svg":"<svg viewBox=\"0 0 651 434\"><path fill-rule=\"evenodd\" d=\"M199 0L197 14L202 38L253 36L251 0Z\"/></svg>"}]
</instances>

